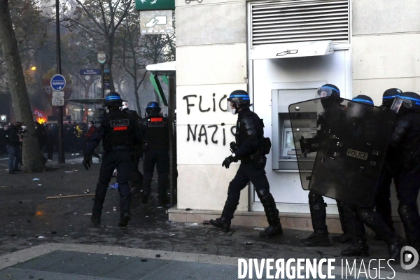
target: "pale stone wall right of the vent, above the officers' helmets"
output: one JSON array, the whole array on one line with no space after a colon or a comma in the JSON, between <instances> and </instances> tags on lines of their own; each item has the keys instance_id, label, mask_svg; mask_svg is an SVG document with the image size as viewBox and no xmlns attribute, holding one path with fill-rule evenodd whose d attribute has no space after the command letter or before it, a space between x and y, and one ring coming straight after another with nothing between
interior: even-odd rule
<instances>
[{"instance_id":1,"label":"pale stone wall right of the vent, above the officers' helmets","mask_svg":"<svg viewBox=\"0 0 420 280\"><path fill-rule=\"evenodd\" d=\"M420 90L420 0L352 1L353 95Z\"/></svg>"}]
</instances>

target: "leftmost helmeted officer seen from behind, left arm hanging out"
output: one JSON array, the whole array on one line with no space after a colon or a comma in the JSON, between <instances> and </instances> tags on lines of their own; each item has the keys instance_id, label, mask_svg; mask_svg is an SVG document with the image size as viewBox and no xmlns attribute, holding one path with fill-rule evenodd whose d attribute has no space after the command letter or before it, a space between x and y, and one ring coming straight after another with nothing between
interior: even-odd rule
<instances>
[{"instance_id":1,"label":"leftmost helmeted officer seen from behind, left arm hanging out","mask_svg":"<svg viewBox=\"0 0 420 280\"><path fill-rule=\"evenodd\" d=\"M87 143L83 165L90 167L90 155L103 139L104 157L94 196L92 223L101 222L102 205L106 190L109 187L113 170L118 171L117 182L120 192L120 222L118 226L126 227L130 221L131 193L129 186L130 170L132 169L132 143L141 141L141 131L137 120L125 111L120 111L123 104L120 94L106 94L106 113L97 120L97 130Z\"/></svg>"}]
</instances>

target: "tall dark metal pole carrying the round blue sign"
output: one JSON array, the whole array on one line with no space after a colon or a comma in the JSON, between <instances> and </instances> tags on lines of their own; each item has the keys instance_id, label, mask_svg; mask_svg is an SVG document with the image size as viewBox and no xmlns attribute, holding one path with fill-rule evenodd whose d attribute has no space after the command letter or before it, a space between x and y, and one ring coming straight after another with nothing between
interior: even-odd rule
<instances>
[{"instance_id":1,"label":"tall dark metal pole carrying the round blue sign","mask_svg":"<svg viewBox=\"0 0 420 280\"><path fill-rule=\"evenodd\" d=\"M61 45L59 40L59 0L55 0L55 36L57 41L57 74L61 74ZM63 145L63 106L58 108L58 163L65 163Z\"/></svg>"}]
</instances>

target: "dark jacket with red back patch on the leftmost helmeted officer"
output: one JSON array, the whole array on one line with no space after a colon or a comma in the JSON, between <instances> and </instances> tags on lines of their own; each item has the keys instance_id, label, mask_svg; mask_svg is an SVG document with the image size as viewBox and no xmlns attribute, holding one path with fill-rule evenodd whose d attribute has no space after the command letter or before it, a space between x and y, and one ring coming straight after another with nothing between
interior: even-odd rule
<instances>
[{"instance_id":1,"label":"dark jacket with red back patch on the leftmost helmeted officer","mask_svg":"<svg viewBox=\"0 0 420 280\"><path fill-rule=\"evenodd\" d=\"M90 154L103 139L104 151L128 151L142 135L137 120L130 113L111 109L95 122L97 129L87 142L85 153Z\"/></svg>"}]
</instances>

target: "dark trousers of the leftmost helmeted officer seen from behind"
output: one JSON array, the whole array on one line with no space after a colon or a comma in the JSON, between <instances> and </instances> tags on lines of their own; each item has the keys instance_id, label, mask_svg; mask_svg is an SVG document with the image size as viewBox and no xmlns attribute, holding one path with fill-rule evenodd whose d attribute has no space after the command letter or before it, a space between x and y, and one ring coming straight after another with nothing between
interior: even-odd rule
<instances>
[{"instance_id":1,"label":"dark trousers of the leftmost helmeted officer seen from behind","mask_svg":"<svg viewBox=\"0 0 420 280\"><path fill-rule=\"evenodd\" d=\"M104 153L99 179L94 195L92 215L100 216L102 214L102 205L105 201L106 190L113 174L117 168L118 191L120 192L120 214L128 211L130 213L131 193L128 185L130 170L132 168L131 151L110 151Z\"/></svg>"}]
</instances>

